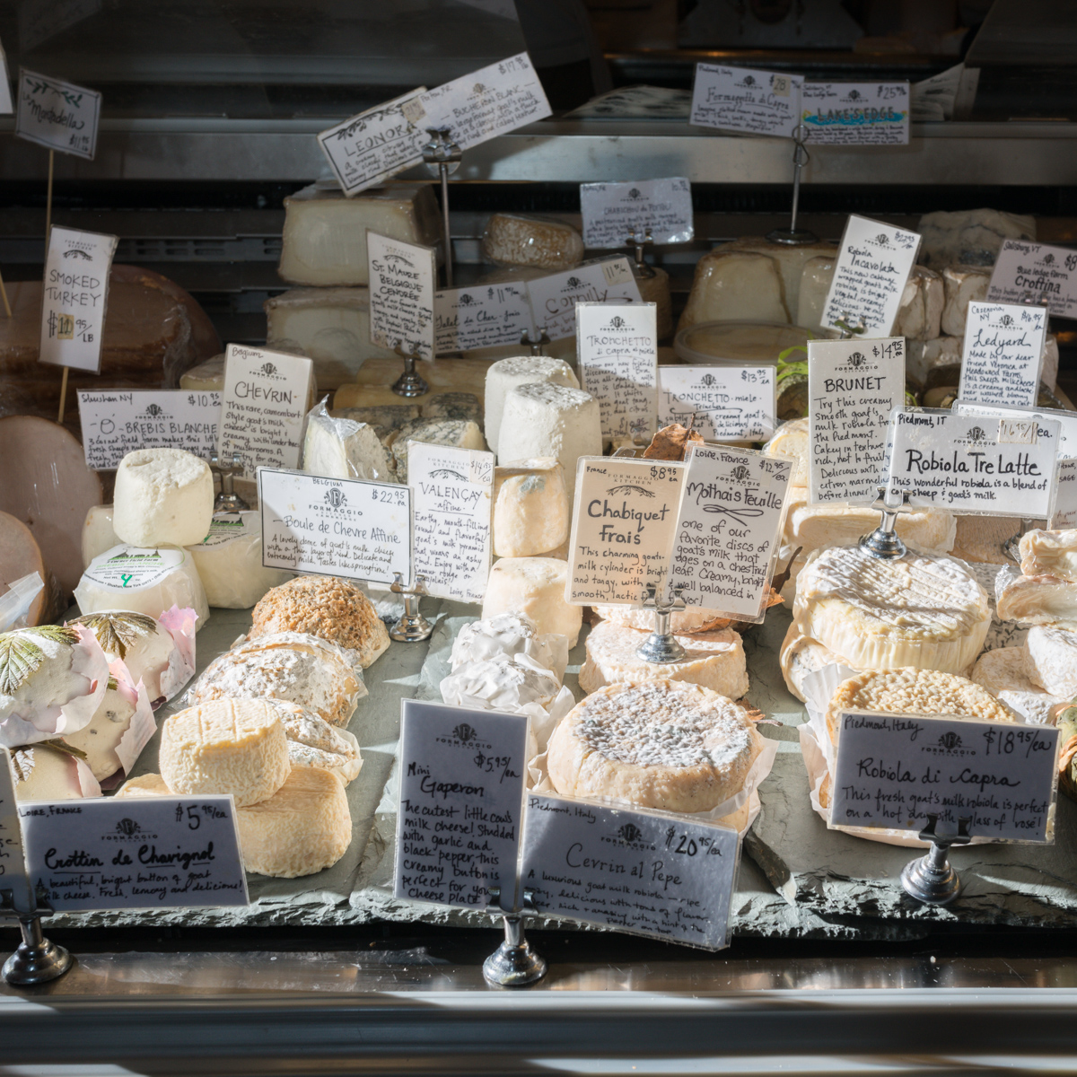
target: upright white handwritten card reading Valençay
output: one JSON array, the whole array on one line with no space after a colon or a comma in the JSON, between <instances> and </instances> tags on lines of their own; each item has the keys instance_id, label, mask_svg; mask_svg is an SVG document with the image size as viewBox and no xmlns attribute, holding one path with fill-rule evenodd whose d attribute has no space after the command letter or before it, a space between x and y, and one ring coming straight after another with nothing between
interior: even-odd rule
<instances>
[{"instance_id":1,"label":"upright white handwritten card reading Valen\u00e7ay","mask_svg":"<svg viewBox=\"0 0 1077 1077\"><path fill-rule=\"evenodd\" d=\"M493 453L412 442L415 573L429 593L481 602L490 575Z\"/></svg>"}]
</instances>

